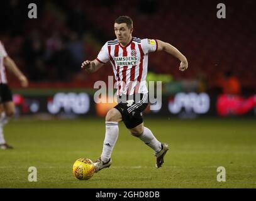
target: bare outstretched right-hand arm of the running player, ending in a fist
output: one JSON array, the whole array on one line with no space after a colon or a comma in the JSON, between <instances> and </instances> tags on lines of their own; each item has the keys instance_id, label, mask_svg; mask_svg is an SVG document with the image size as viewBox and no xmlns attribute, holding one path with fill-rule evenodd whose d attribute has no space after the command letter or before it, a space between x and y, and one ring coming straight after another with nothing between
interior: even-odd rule
<instances>
[{"instance_id":1,"label":"bare outstretched right-hand arm of the running player, ending in a fist","mask_svg":"<svg viewBox=\"0 0 256 201\"><path fill-rule=\"evenodd\" d=\"M165 52L169 53L170 55L178 58L181 61L181 65L179 66L179 70L184 71L188 67L188 62L187 58L182 55L177 48L174 46L170 45L169 43L165 43L163 41L157 40L157 51L162 51L164 50Z\"/></svg>"}]
</instances>

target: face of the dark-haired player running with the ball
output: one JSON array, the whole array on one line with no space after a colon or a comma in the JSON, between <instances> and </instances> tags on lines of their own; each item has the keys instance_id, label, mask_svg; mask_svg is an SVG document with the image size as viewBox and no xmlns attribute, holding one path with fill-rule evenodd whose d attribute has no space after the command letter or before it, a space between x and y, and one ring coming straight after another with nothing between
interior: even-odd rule
<instances>
[{"instance_id":1,"label":"face of the dark-haired player running with the ball","mask_svg":"<svg viewBox=\"0 0 256 201\"><path fill-rule=\"evenodd\" d=\"M131 40L133 28L128 28L126 23L114 23L114 34L122 45L126 45Z\"/></svg>"}]
</instances>

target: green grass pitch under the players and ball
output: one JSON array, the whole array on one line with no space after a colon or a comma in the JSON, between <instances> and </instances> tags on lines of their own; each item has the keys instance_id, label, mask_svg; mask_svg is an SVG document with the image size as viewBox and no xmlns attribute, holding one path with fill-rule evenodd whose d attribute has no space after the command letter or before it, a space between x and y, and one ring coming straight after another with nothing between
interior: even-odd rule
<instances>
[{"instance_id":1,"label":"green grass pitch under the players and ball","mask_svg":"<svg viewBox=\"0 0 256 201\"><path fill-rule=\"evenodd\" d=\"M255 188L255 119L147 119L145 126L169 143L162 168L152 149L123 122L110 168L90 180L72 175L74 161L99 157L104 119L13 120L4 128L13 150L0 150L0 188ZM28 182L28 168L37 182ZM218 166L226 182L218 182Z\"/></svg>"}]
</instances>

